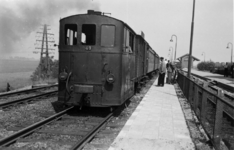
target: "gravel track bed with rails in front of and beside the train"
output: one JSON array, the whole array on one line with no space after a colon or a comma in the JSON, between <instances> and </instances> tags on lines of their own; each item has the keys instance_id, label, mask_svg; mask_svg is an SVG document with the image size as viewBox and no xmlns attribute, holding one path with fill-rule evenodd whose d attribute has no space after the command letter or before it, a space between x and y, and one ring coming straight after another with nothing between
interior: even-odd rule
<instances>
[{"instance_id":1,"label":"gravel track bed with rails in front of and beside the train","mask_svg":"<svg viewBox=\"0 0 234 150\"><path fill-rule=\"evenodd\" d=\"M87 147L98 145L98 143L93 143L95 140L102 141L107 138L108 141L106 142L109 142L124 126L124 122L127 120L125 117L128 117L130 111L137 107L139 100L143 98L142 94L144 95L148 91L152 83L147 84L134 100L126 102L126 105L128 105L130 101L133 101L133 104L131 103L127 110L125 110L126 105L122 105L120 109L115 109L113 113L110 113L109 109L104 109L106 111L103 112L102 108L101 111L88 110L84 114L83 110L69 107L55 115L51 111L34 112L36 116L33 115L33 118L37 118L37 123L33 121L32 117L29 117L31 120L27 121L11 121L13 125L10 127L8 127L9 123L6 123L2 126L4 128L0 129L3 133L6 133L5 136L3 136L4 134L2 137L0 136L0 149L82 149L82 147L89 149ZM68 113L72 110L78 113ZM51 146L52 142L54 145ZM57 145L60 144L59 147L56 147L56 143ZM108 144L102 146L108 147Z\"/></svg>"}]
</instances>

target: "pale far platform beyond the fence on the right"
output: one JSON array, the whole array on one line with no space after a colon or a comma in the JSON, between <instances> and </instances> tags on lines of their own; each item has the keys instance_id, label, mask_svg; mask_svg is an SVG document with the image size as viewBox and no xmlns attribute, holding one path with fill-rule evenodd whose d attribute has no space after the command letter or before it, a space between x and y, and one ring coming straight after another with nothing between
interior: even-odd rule
<instances>
[{"instance_id":1,"label":"pale far platform beyond the fence on the right","mask_svg":"<svg viewBox=\"0 0 234 150\"><path fill-rule=\"evenodd\" d=\"M183 69L183 70L188 71L187 68ZM224 84L227 84L227 85L230 85L230 86L234 87L234 78L224 77L221 74L211 73L211 72L208 72L208 71L199 71L199 70L196 70L196 69L191 69L191 73L197 74L199 76L203 76L203 77L206 77L206 78L209 78L211 80L216 80L218 82L221 82L221 83L224 83Z\"/></svg>"}]
</instances>

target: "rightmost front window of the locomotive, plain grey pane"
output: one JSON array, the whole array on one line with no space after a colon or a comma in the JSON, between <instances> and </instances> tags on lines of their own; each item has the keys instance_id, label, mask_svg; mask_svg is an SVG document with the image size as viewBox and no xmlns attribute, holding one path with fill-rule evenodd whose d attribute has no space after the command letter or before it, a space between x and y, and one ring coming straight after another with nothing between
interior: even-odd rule
<instances>
[{"instance_id":1,"label":"rightmost front window of the locomotive, plain grey pane","mask_svg":"<svg viewBox=\"0 0 234 150\"><path fill-rule=\"evenodd\" d=\"M101 46L114 47L115 43L115 26L102 25Z\"/></svg>"}]
</instances>

